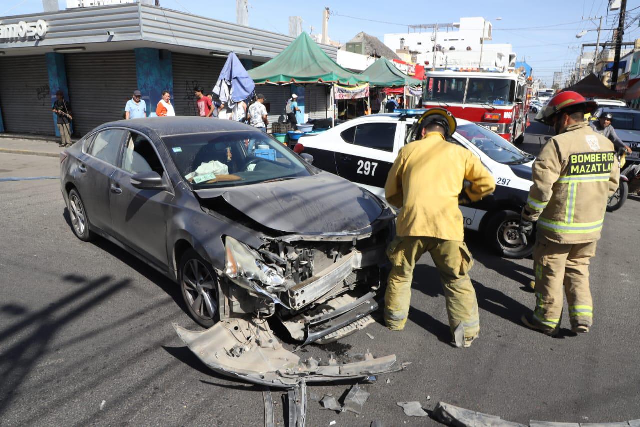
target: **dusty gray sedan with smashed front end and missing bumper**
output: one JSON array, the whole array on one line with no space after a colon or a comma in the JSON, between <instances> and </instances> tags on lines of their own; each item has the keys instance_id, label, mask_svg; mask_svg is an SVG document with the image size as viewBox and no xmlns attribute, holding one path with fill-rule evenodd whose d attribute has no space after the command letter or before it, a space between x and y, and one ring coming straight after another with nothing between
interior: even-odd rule
<instances>
[{"instance_id":1,"label":"dusty gray sedan with smashed front end and missing bumper","mask_svg":"<svg viewBox=\"0 0 640 427\"><path fill-rule=\"evenodd\" d=\"M205 328L275 317L294 340L330 342L372 322L394 212L311 162L239 122L133 119L62 153L61 187L79 239L177 281Z\"/></svg>"}]
</instances>

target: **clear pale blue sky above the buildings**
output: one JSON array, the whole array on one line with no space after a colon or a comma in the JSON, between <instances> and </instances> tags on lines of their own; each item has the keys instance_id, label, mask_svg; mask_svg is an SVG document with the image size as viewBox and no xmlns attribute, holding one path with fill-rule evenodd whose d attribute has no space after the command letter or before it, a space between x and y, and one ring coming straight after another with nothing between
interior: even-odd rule
<instances>
[{"instance_id":1,"label":"clear pale blue sky above the buildings","mask_svg":"<svg viewBox=\"0 0 640 427\"><path fill-rule=\"evenodd\" d=\"M236 21L235 0L160 0L166 8L197 13L225 21ZM0 16L33 13L42 10L42 0L3 0ZM493 42L511 43L534 69L534 76L551 83L554 71L566 71L580 54L580 44L595 42L597 31L582 38L575 35L582 29L597 28L589 16L603 15L601 40L611 40L610 28L618 25L618 13L609 12L608 0L461 0L461 1L335 1L324 2L250 0L249 24L257 28L288 33L289 15L300 15L303 29L320 33L322 13L329 6L329 35L333 40L347 42L360 31L380 37L385 33L406 31L408 24L456 22L463 16L484 16L493 22ZM60 0L60 6L66 6ZM637 8L637 9L634 9ZM640 14L640 0L627 1L627 22ZM496 21L496 17L502 17ZM384 21L384 22L376 22ZM636 20L625 31L625 41L640 38ZM313 27L313 29L312 29ZM593 50L593 47L587 49Z\"/></svg>"}]
</instances>

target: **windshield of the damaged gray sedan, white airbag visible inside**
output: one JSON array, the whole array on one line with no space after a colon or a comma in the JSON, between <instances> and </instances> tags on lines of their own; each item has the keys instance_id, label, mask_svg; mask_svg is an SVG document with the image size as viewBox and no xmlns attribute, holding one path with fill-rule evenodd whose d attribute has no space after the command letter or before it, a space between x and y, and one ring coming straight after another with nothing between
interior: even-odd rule
<instances>
[{"instance_id":1,"label":"windshield of the damaged gray sedan, white airbag visible inside","mask_svg":"<svg viewBox=\"0 0 640 427\"><path fill-rule=\"evenodd\" d=\"M180 175L196 189L312 174L291 150L258 130L189 133L163 140Z\"/></svg>"}]
</instances>

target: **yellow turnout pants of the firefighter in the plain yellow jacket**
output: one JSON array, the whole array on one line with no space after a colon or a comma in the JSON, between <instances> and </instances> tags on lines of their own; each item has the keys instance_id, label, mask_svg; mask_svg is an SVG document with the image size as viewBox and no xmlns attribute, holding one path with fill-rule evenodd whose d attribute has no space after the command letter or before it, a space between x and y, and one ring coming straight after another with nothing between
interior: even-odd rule
<instances>
[{"instance_id":1,"label":"yellow turnout pants of the firefighter in the plain yellow jacket","mask_svg":"<svg viewBox=\"0 0 640 427\"><path fill-rule=\"evenodd\" d=\"M391 330L404 329L411 305L413 269L425 252L431 254L440 272L449 326L456 345L461 346L465 337L476 337L480 331L476 290L468 276L474 262L465 242L413 236L396 237L391 242L387 249L392 269L385 294L385 323Z\"/></svg>"}]
</instances>

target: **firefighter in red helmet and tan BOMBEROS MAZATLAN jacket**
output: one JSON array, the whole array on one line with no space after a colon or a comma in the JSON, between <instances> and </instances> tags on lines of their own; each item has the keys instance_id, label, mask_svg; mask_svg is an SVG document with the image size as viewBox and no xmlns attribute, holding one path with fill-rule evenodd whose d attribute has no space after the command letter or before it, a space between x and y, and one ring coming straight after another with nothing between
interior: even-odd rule
<instances>
[{"instance_id":1,"label":"firefighter in red helmet and tan BOMBEROS MAZATLAN jacket","mask_svg":"<svg viewBox=\"0 0 640 427\"><path fill-rule=\"evenodd\" d=\"M596 253L607 199L620 181L613 143L584 120L595 107L594 101L567 90L536 116L553 126L556 136L533 165L533 185L522 211L525 236L538 222L533 251L537 303L522 322L547 335L560 330L563 288L572 331L589 332L593 325L589 260Z\"/></svg>"}]
</instances>

